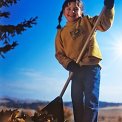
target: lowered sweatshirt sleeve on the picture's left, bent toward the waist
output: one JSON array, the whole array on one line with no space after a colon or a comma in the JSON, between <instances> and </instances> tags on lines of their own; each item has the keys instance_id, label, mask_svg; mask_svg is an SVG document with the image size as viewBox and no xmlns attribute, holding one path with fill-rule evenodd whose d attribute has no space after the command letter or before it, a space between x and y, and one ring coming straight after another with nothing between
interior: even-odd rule
<instances>
[{"instance_id":1,"label":"lowered sweatshirt sleeve on the picture's left, bent toward the waist","mask_svg":"<svg viewBox=\"0 0 122 122\"><path fill-rule=\"evenodd\" d=\"M56 38L55 38L55 57L65 69L67 68L67 65L69 64L69 62L72 61L65 54L63 42L61 39L61 29L58 30Z\"/></svg>"}]
</instances>

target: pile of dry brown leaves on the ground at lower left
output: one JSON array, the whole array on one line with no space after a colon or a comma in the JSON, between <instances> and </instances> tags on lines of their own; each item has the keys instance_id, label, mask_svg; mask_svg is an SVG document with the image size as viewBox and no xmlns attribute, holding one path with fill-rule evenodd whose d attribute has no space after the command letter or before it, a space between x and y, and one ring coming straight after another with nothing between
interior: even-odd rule
<instances>
[{"instance_id":1,"label":"pile of dry brown leaves on the ground at lower left","mask_svg":"<svg viewBox=\"0 0 122 122\"><path fill-rule=\"evenodd\" d=\"M36 111L30 116L19 109L2 110L0 112L0 122L58 122L56 117L48 114L47 111ZM64 122L69 122L65 119Z\"/></svg>"}]
</instances>

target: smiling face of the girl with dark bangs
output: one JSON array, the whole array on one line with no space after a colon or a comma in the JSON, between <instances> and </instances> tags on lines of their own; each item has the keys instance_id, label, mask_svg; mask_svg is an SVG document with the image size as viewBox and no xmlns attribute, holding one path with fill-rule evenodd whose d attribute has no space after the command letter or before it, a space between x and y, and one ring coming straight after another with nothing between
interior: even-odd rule
<instances>
[{"instance_id":1,"label":"smiling face of the girl with dark bangs","mask_svg":"<svg viewBox=\"0 0 122 122\"><path fill-rule=\"evenodd\" d=\"M64 16L68 22L74 22L82 15L81 8L76 2L70 2L68 6L64 8Z\"/></svg>"}]
</instances>

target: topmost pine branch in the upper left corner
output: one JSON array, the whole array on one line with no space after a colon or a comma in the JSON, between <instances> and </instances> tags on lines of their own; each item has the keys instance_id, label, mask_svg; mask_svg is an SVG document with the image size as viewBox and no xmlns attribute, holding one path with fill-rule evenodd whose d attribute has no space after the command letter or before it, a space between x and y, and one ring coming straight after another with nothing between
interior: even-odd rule
<instances>
[{"instance_id":1,"label":"topmost pine branch in the upper left corner","mask_svg":"<svg viewBox=\"0 0 122 122\"><path fill-rule=\"evenodd\" d=\"M19 0L0 0L0 8L1 7L9 7L12 4L16 4Z\"/></svg>"}]
</instances>

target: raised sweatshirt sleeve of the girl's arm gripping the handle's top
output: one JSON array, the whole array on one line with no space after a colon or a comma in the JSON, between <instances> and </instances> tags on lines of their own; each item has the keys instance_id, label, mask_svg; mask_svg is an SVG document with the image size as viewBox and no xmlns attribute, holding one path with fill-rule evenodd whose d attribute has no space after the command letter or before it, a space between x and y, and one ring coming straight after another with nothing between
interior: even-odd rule
<instances>
[{"instance_id":1,"label":"raised sweatshirt sleeve of the girl's arm gripping the handle's top","mask_svg":"<svg viewBox=\"0 0 122 122\"><path fill-rule=\"evenodd\" d=\"M105 8L105 11L104 11L96 29L100 30L100 31L107 31L113 24L114 13L115 13L114 7L112 9ZM97 18L98 18L98 16L95 16L90 19L92 26L94 26Z\"/></svg>"}]
</instances>

